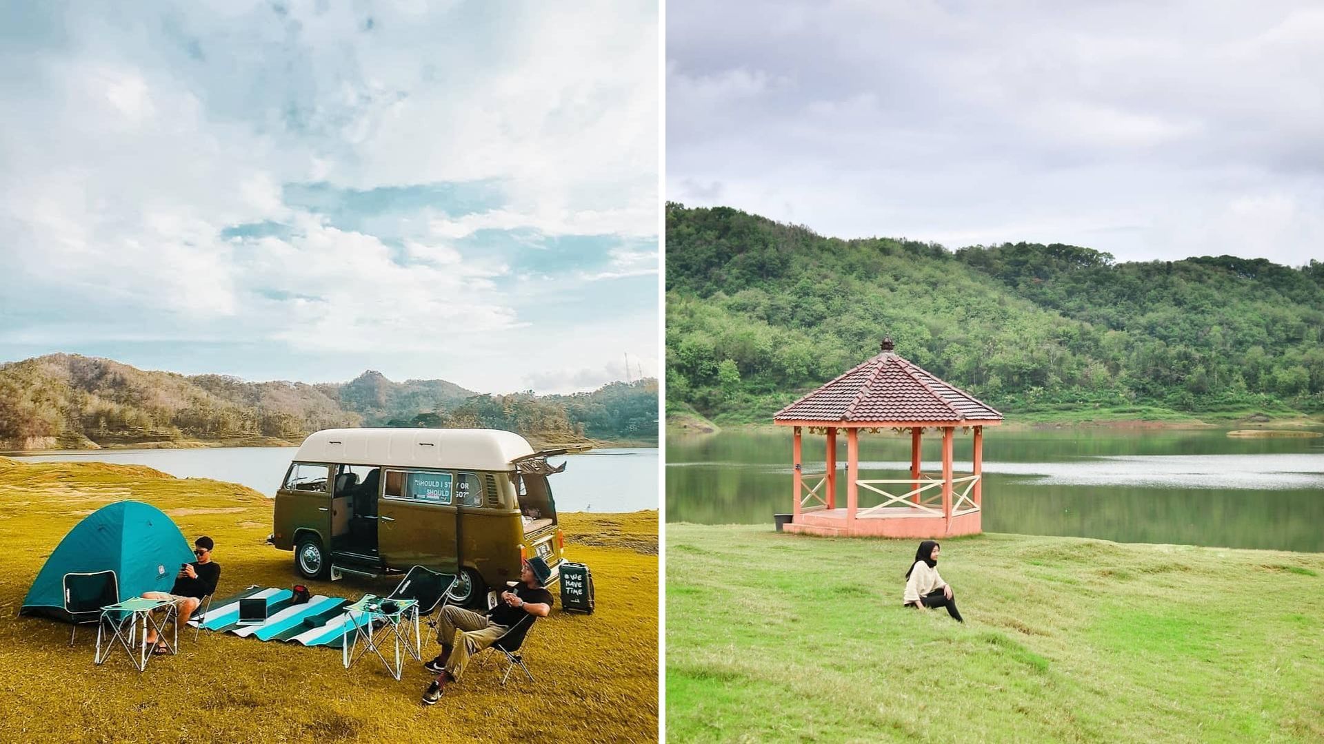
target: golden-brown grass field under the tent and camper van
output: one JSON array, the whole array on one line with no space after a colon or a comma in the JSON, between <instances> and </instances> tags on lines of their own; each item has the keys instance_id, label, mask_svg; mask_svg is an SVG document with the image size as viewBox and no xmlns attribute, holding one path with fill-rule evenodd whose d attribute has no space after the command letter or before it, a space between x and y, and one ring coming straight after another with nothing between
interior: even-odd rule
<instances>
[{"instance_id":1,"label":"golden-brown grass field under the tent and camper van","mask_svg":"<svg viewBox=\"0 0 1324 744\"><path fill-rule=\"evenodd\" d=\"M184 535L216 540L218 594L298 580L291 553L265 543L271 502L139 466L0 458L0 739L7 741L647 741L658 727L655 511L561 515L571 560L593 571L597 610L553 610L524 645L538 679L499 684L496 658L473 666L440 703L420 704L418 662L396 682L339 650L204 631L146 674L120 654L93 665L94 630L16 617L32 580L85 515L120 499L151 503ZM310 582L312 593L385 593L396 580ZM91 628L91 626L87 626ZM434 654L429 641L425 653ZM478 662L475 662L478 663Z\"/></svg>"}]
</instances>

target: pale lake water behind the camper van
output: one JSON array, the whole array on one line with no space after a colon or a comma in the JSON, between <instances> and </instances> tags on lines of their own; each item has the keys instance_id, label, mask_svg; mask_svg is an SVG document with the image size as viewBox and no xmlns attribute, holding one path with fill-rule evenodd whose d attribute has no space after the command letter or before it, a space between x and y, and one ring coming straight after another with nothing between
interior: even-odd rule
<instances>
[{"instance_id":1,"label":"pale lake water behind the camper van","mask_svg":"<svg viewBox=\"0 0 1324 744\"><path fill-rule=\"evenodd\" d=\"M146 465L176 478L241 483L267 496L285 478L293 447L208 447L188 450L94 450L8 455L24 461L78 461ZM638 511L658 508L658 449L609 447L548 458L569 462L551 479L559 511Z\"/></svg>"}]
</instances>

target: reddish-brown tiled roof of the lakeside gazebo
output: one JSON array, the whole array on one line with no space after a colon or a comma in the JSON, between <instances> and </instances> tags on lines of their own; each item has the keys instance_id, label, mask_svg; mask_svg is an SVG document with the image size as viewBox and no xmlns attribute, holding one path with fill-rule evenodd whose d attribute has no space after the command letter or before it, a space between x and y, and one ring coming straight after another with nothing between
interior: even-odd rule
<instances>
[{"instance_id":1,"label":"reddish-brown tiled roof of the lakeside gazebo","mask_svg":"<svg viewBox=\"0 0 1324 744\"><path fill-rule=\"evenodd\" d=\"M965 391L883 352L782 408L775 421L990 421L1002 414Z\"/></svg>"}]
</instances>

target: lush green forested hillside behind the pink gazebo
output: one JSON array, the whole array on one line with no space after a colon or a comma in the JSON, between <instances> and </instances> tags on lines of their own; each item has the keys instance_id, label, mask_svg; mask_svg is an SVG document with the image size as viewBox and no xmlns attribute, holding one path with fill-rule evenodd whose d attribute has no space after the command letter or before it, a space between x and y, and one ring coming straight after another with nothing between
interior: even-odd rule
<instances>
[{"instance_id":1,"label":"lush green forested hillside behind the pink gazebo","mask_svg":"<svg viewBox=\"0 0 1324 744\"><path fill-rule=\"evenodd\" d=\"M1324 410L1324 263L838 240L666 212L669 414L768 422L896 352L1004 413Z\"/></svg>"}]
</instances>

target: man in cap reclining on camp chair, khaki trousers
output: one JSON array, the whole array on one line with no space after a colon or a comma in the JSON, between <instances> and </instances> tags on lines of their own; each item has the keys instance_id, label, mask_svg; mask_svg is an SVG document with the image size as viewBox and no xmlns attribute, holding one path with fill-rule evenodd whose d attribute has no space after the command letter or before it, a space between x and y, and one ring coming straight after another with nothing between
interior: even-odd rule
<instances>
[{"instance_id":1,"label":"man in cap reclining on camp chair, khaki trousers","mask_svg":"<svg viewBox=\"0 0 1324 744\"><path fill-rule=\"evenodd\" d=\"M470 657L500 639L524 616L547 617L552 612L552 593L543 588L551 576L547 561L534 556L524 561L519 584L502 592L500 601L487 614L454 605L441 608L437 624L441 654L424 665L428 671L437 673L437 679L424 691L424 704L440 700L446 684L459 682Z\"/></svg>"}]
</instances>

